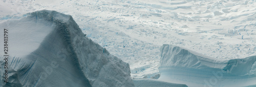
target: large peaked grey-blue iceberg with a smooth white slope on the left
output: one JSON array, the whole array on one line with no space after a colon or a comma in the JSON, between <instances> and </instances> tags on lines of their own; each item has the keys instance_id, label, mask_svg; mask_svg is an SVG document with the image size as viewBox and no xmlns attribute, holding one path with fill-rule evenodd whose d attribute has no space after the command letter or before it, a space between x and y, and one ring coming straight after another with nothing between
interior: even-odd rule
<instances>
[{"instance_id":1,"label":"large peaked grey-blue iceberg with a smooth white slope on the left","mask_svg":"<svg viewBox=\"0 0 256 87\"><path fill-rule=\"evenodd\" d=\"M86 37L70 15L41 10L0 28L9 31L10 55L8 83L0 55L0 86L134 86L129 64Z\"/></svg>"}]
</instances>

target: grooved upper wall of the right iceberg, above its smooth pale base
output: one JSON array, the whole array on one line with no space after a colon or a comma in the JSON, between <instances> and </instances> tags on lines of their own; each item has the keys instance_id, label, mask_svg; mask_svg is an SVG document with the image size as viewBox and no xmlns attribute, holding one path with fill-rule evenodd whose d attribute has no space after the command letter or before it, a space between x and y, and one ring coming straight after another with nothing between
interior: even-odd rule
<instances>
[{"instance_id":1,"label":"grooved upper wall of the right iceberg, above its smooth pale base","mask_svg":"<svg viewBox=\"0 0 256 87\"><path fill-rule=\"evenodd\" d=\"M164 44L161 47L159 70L164 69L197 69L201 71L220 70L232 75L255 75L256 56L241 59L214 59L182 47Z\"/></svg>"}]
</instances>

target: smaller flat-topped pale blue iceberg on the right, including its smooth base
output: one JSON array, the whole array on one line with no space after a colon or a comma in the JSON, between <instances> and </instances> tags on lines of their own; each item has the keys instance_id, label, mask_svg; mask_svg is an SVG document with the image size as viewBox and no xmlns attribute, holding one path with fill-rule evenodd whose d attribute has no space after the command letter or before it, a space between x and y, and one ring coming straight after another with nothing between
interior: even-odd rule
<instances>
[{"instance_id":1,"label":"smaller flat-topped pale blue iceberg on the right, including its smooth base","mask_svg":"<svg viewBox=\"0 0 256 87\"><path fill-rule=\"evenodd\" d=\"M216 59L174 45L161 47L159 80L188 86L255 85L256 56Z\"/></svg>"}]
</instances>

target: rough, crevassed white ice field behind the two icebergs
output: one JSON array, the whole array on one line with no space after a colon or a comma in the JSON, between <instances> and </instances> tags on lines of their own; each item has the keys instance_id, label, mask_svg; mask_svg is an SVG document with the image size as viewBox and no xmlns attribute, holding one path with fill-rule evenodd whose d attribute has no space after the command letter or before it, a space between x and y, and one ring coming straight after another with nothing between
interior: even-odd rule
<instances>
[{"instance_id":1,"label":"rough, crevassed white ice field behind the two icebergs","mask_svg":"<svg viewBox=\"0 0 256 87\"><path fill-rule=\"evenodd\" d=\"M163 44L215 59L256 55L255 4L255 0L1 0L0 19L42 9L72 15L89 38L130 63L132 77L150 78L158 74Z\"/></svg>"}]
</instances>

